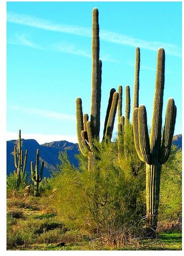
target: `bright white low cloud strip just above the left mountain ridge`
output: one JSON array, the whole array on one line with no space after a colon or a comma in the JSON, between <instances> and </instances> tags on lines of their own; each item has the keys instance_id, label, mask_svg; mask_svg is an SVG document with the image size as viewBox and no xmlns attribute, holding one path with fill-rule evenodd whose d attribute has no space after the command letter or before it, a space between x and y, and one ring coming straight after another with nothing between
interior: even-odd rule
<instances>
[{"instance_id":1,"label":"bright white low cloud strip just above the left mountain ridge","mask_svg":"<svg viewBox=\"0 0 184 256\"><path fill-rule=\"evenodd\" d=\"M64 134L42 134L42 133L23 133L24 139L35 139L39 144L46 142L67 140L69 142L78 143L76 135L64 135ZM17 139L17 132L7 132L6 140Z\"/></svg>"}]
</instances>

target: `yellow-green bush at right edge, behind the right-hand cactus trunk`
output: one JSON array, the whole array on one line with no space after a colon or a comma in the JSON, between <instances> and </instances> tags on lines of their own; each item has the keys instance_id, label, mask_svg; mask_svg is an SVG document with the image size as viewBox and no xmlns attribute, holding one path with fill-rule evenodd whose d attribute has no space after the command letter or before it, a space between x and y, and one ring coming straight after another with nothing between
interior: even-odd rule
<instances>
[{"instance_id":1,"label":"yellow-green bush at right edge, behind the right-hand cactus trunk","mask_svg":"<svg viewBox=\"0 0 184 256\"><path fill-rule=\"evenodd\" d=\"M182 150L172 146L161 172L159 221L182 219Z\"/></svg>"}]
</instances>

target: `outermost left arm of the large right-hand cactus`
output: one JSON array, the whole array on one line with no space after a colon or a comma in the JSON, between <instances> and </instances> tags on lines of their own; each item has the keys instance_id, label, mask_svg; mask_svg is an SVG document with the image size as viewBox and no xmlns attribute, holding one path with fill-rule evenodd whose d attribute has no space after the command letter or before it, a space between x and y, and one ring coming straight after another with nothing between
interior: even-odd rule
<instances>
[{"instance_id":1,"label":"outermost left arm of the large right-hand cactus","mask_svg":"<svg viewBox=\"0 0 184 256\"><path fill-rule=\"evenodd\" d=\"M140 145L139 145L139 128L138 128L138 108L135 108L133 111L133 118L132 118L132 126L133 126L133 135L134 135L134 144L137 154L141 161L144 162L144 158L141 153Z\"/></svg>"}]
</instances>

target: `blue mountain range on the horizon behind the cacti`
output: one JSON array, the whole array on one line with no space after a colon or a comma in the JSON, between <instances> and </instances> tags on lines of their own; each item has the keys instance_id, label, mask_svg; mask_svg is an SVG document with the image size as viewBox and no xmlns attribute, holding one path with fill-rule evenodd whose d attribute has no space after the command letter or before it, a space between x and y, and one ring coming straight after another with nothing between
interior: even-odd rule
<instances>
[{"instance_id":1,"label":"blue mountain range on the horizon behind the cacti","mask_svg":"<svg viewBox=\"0 0 184 256\"><path fill-rule=\"evenodd\" d=\"M14 167L14 145L17 145L18 140L8 140L6 142L6 174L12 173L15 170ZM178 148L182 148L182 134L175 135L173 137L173 144L177 145ZM39 144L35 139L21 139L21 148L25 153L28 150L26 173L30 174L30 162L33 161L33 165L36 162L36 150L39 149L40 155L40 166L41 162L44 161L44 176L50 177L52 171L56 170L56 165L60 164L58 155L60 151L66 151L70 162L78 166L78 160L75 157L79 154L78 143L68 142L66 140L53 141L49 143Z\"/></svg>"}]
</instances>

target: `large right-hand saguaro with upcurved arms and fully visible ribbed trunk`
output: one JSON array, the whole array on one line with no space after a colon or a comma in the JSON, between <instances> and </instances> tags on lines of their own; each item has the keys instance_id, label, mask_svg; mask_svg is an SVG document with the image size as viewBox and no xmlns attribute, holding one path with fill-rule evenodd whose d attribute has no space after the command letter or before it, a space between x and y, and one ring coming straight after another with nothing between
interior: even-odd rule
<instances>
[{"instance_id":1,"label":"large right-hand saguaro with upcurved arms and fully visible ribbed trunk","mask_svg":"<svg viewBox=\"0 0 184 256\"><path fill-rule=\"evenodd\" d=\"M165 51L158 50L156 85L150 138L145 106L133 112L134 142L138 156L146 163L146 206L148 228L156 231L158 222L161 166L170 155L177 109L173 99L168 100L162 136L162 110L165 80Z\"/></svg>"}]
</instances>

